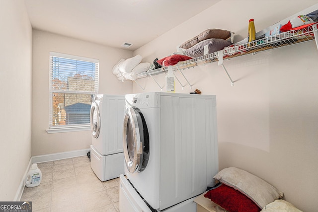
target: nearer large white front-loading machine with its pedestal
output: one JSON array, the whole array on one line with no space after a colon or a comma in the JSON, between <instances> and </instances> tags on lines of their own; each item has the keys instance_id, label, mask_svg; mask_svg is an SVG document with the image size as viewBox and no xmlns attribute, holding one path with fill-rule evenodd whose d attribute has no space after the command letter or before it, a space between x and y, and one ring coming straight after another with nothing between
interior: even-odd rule
<instances>
[{"instance_id":1,"label":"nearer large white front-loading machine with its pedestal","mask_svg":"<svg viewBox=\"0 0 318 212\"><path fill-rule=\"evenodd\" d=\"M216 97L132 94L125 108L120 211L195 212L219 169Z\"/></svg>"}]
</instances>

